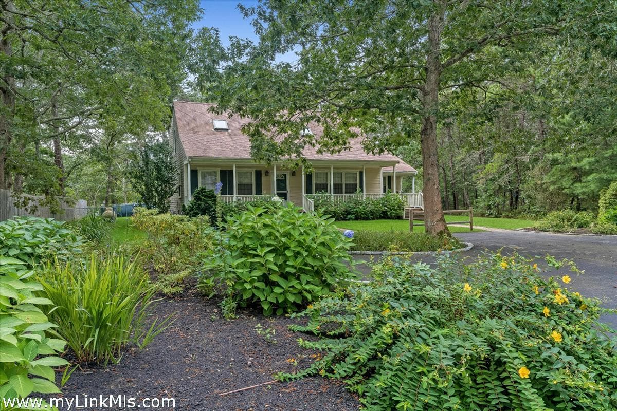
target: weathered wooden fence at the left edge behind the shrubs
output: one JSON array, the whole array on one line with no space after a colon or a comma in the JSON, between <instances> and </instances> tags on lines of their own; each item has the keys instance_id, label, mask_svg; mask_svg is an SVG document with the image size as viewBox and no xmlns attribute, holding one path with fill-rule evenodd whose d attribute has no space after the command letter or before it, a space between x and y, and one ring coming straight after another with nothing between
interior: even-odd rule
<instances>
[{"instance_id":1,"label":"weathered wooden fence at the left edge behind the shrubs","mask_svg":"<svg viewBox=\"0 0 617 411\"><path fill-rule=\"evenodd\" d=\"M54 218L60 221L73 221L88 214L88 201L77 200L74 205L68 205L60 201L60 213L52 213L48 206L38 206L39 200L43 197L28 196L30 205L36 205L36 211L31 213L25 208L15 207L15 198L10 195L9 190L0 190L0 221L12 219L15 216L35 216L44 218Z\"/></svg>"}]
</instances>

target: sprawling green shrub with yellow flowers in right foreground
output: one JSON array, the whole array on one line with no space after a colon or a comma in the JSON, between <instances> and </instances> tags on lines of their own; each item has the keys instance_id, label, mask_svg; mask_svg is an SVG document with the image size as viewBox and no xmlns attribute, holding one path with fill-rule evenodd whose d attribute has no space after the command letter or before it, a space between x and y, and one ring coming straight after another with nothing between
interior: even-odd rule
<instances>
[{"instance_id":1,"label":"sprawling green shrub with yellow flowers in right foreground","mask_svg":"<svg viewBox=\"0 0 617 411\"><path fill-rule=\"evenodd\" d=\"M390 256L371 283L296 314L308 322L292 330L322 337L300 346L323 358L278 378L344 378L368 410L617 409L615 330L598 322L608 310L566 288L576 275L538 270L499 253L436 267Z\"/></svg>"}]
</instances>

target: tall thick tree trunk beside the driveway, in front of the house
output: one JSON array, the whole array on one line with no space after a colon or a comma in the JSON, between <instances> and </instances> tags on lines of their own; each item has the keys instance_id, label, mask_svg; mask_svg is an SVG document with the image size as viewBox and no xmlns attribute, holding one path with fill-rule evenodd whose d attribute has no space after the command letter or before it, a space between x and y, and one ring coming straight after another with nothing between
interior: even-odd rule
<instances>
[{"instance_id":1,"label":"tall thick tree trunk beside the driveway, in front of the house","mask_svg":"<svg viewBox=\"0 0 617 411\"><path fill-rule=\"evenodd\" d=\"M445 225L444 210L439 190L439 168L437 166L437 109L439 108L439 61L442 12L431 15L428 21L429 52L426 55L426 83L422 105L424 120L420 137L422 141L424 226L428 234L450 236Z\"/></svg>"}]
</instances>

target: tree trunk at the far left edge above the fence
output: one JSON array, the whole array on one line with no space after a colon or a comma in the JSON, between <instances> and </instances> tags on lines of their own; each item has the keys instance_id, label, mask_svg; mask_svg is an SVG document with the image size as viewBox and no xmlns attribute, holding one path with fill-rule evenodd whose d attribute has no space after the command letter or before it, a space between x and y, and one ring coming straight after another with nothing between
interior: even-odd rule
<instances>
[{"instance_id":1,"label":"tree trunk at the far left edge above the fence","mask_svg":"<svg viewBox=\"0 0 617 411\"><path fill-rule=\"evenodd\" d=\"M14 9L12 2L1 2L3 7ZM10 14L7 14L10 18ZM10 57L12 48L8 38L10 25L3 24L0 31L0 54ZM15 78L9 73L2 72L0 81L0 94L2 94L2 106L0 108L0 189L10 188L10 176L7 170L7 157L9 154L10 141L12 139L11 120L15 112Z\"/></svg>"}]
</instances>

